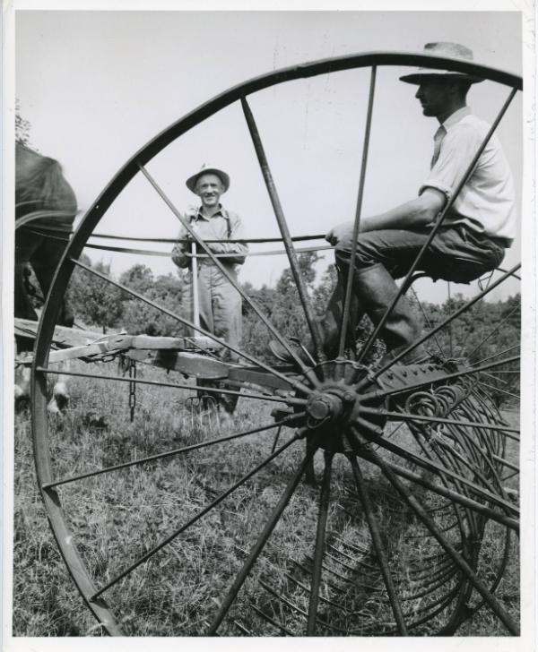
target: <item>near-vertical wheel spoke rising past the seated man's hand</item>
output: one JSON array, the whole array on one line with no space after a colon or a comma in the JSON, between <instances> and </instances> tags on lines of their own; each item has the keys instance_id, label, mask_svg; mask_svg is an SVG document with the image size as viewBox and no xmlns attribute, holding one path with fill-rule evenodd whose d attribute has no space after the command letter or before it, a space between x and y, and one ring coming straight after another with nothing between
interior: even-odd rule
<instances>
[{"instance_id":1,"label":"near-vertical wheel spoke rising past the seated man's hand","mask_svg":"<svg viewBox=\"0 0 538 652\"><path fill-rule=\"evenodd\" d=\"M357 237L360 230L360 212L362 210L362 195L364 193L364 180L366 178L366 168L368 162L369 137L372 125L372 111L374 107L374 92L376 90L376 73L377 67L372 65L370 72L368 110L366 115L366 126L364 128L364 144L362 146L362 161L360 163L359 191L357 194L357 206L355 209L355 220L353 223L353 234L351 236L351 254L350 266L348 268L345 293L342 305L342 321L340 323L340 342L338 345L338 357L343 357L345 350L345 340L347 336L348 321L351 308L351 290L353 285L353 271L355 269L355 258L357 256Z\"/></svg>"}]
</instances>

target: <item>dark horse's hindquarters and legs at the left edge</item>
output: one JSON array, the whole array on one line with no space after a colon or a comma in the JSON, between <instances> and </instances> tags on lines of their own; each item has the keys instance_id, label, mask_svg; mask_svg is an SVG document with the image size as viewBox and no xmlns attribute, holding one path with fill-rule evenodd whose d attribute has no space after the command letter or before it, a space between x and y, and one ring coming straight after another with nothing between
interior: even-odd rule
<instances>
[{"instance_id":1,"label":"dark horse's hindquarters and legs at the left edge","mask_svg":"<svg viewBox=\"0 0 538 652\"><path fill-rule=\"evenodd\" d=\"M15 318L38 320L35 297L29 283L33 270L42 296L47 296L56 267L73 229L77 202L73 188L65 180L56 159L42 156L30 147L15 144ZM59 306L57 324L72 327L74 314L65 300ZM15 336L17 356L33 347L33 339ZM18 365L15 372L15 399L29 398L30 368ZM65 379L59 377L48 404L58 413L68 400Z\"/></svg>"}]
</instances>

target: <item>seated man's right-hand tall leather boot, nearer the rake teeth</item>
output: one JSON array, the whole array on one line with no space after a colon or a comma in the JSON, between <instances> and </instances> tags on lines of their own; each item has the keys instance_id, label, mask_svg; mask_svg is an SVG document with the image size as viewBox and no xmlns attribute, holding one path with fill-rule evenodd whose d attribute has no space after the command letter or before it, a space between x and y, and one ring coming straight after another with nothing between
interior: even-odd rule
<instances>
[{"instance_id":1,"label":"seated man's right-hand tall leather boot, nearer the rake teeth","mask_svg":"<svg viewBox=\"0 0 538 652\"><path fill-rule=\"evenodd\" d=\"M395 280L381 263L356 270L353 277L353 290L374 326L381 322L386 309L398 293ZM381 360L381 365L393 359L421 337L421 326L404 296L398 299L389 313L379 335L386 344L386 355ZM413 365L427 360L428 357L426 349L419 345L398 362L401 365Z\"/></svg>"}]
</instances>

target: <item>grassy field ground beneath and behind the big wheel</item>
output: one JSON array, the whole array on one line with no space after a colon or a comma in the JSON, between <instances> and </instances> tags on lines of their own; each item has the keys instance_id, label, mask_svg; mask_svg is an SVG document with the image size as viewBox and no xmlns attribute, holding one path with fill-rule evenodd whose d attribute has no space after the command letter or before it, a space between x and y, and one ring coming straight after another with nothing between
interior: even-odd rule
<instances>
[{"instance_id":1,"label":"grassy field ground beneath and behind the big wheel","mask_svg":"<svg viewBox=\"0 0 538 652\"><path fill-rule=\"evenodd\" d=\"M77 364L83 371L90 371L88 365ZM117 372L112 364L100 365L100 370ZM154 377L152 370L145 373L147 378ZM172 380L167 377L168 382ZM186 405L186 391L143 387L138 390L134 423L130 423L125 384L73 379L70 391L72 399L65 416L51 419L49 427L56 477L268 424L275 405L240 399L233 421L216 427L214 417L212 422L195 419L193 423ZM508 418L516 425L515 412ZM61 487L59 494L66 519L96 584L102 586L256 467L270 454L274 433L270 430L249 435L181 457L149 462ZM27 410L16 416L14 436L13 634L100 636L103 632L74 588L48 528L33 467ZM284 429L279 446L291 436L292 431ZM398 434L400 438L409 436L404 429ZM206 630L207 622L212 620L217 605L303 455L302 442L291 444L263 471L231 493L218 509L210 511L106 592L108 604L112 605L126 635L196 636ZM516 462L515 447L508 450L508 456ZM333 554L326 562L322 586L325 600L319 610L319 618L326 623L320 631L324 636L371 635L380 623L393 620L378 590L378 577L369 571L368 528L353 496L351 473L344 461L339 458L334 463L327 525L327 542ZM318 455L318 477L322 464L323 459ZM395 579L402 587L412 587L413 573L414 578L424 573L416 566L417 558L433 556L438 553L438 547L398 497L391 494L377 471L367 467L364 473ZM300 586L307 581L307 574L301 568L308 568L314 550L318 495L318 487L299 484L252 576L239 593L230 617L219 630L221 635L238 636L241 627L244 631L270 636L304 631L305 617L301 610L308 609L308 592ZM426 496L421 498L430 500ZM428 504L435 507L436 503ZM482 579L493 581L503 543L504 529L488 524L479 562ZM344 555L350 558L348 565L352 566L352 572L345 570ZM496 595L516 621L517 560L517 539L512 537L507 568ZM358 568L362 571L357 571ZM447 586L451 585L439 587L438 593L432 592L431 596L442 596ZM273 595L271 589L281 598ZM282 601L282 596L293 608ZM467 604L473 607L477 602L476 596L471 596ZM354 614L351 620L349 615L344 617L338 611L344 604ZM405 608L412 608L419 617L421 606L421 601L415 599ZM272 614L277 624L269 622L267 614ZM439 613L419 633L436 631L447 618L447 613ZM505 636L507 631L484 608L457 633Z\"/></svg>"}]
</instances>

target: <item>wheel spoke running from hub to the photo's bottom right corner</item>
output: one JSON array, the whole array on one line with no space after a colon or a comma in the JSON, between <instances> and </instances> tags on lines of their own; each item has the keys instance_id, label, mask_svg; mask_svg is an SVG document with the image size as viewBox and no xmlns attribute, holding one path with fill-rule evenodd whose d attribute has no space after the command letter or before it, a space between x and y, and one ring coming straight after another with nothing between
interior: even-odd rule
<instances>
[{"instance_id":1,"label":"wheel spoke running from hub to the photo's bottom right corner","mask_svg":"<svg viewBox=\"0 0 538 652\"><path fill-rule=\"evenodd\" d=\"M368 442L360 435L360 433L355 433L355 437L360 445L368 445ZM495 613L499 620L505 625L508 631L513 636L519 635L519 629L516 625L516 622L512 620L510 615L503 609L500 605L499 600L490 593L490 590L484 585L481 579L477 577L473 569L465 562L464 558L460 553L456 551L456 548L447 541L447 538L443 536L442 532L439 530L435 521L430 517L428 512L424 510L421 506L421 503L413 496L411 491L404 485L394 471L386 464L386 461L377 455L375 450L369 450L369 455L374 460L375 464L381 469L386 479L390 482L391 485L395 487L395 490L402 496L404 501L411 507L417 517L421 520L424 526L430 531L431 535L435 537L443 550L445 550L450 557L454 560L457 568L462 572L465 579L467 579L475 588L478 593L482 596L484 602L490 607L491 611Z\"/></svg>"}]
</instances>

